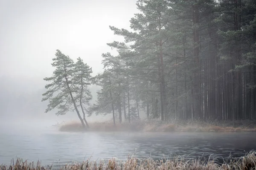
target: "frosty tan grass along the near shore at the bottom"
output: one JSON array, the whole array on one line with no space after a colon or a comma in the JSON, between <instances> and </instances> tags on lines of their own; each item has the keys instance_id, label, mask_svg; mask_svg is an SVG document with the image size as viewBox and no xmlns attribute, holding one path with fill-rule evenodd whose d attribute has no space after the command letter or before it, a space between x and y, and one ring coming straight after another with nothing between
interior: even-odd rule
<instances>
[{"instance_id":1,"label":"frosty tan grass along the near shore at the bottom","mask_svg":"<svg viewBox=\"0 0 256 170\"><path fill-rule=\"evenodd\" d=\"M247 153L239 159L224 161L223 164L216 164L214 161L167 159L154 161L153 159L137 159L128 157L126 161L119 161L115 158L106 161L83 161L82 163L65 164L61 167L52 165L42 166L38 161L36 164L28 163L17 159L16 163L0 165L0 170L255 170L256 152Z\"/></svg>"}]
</instances>

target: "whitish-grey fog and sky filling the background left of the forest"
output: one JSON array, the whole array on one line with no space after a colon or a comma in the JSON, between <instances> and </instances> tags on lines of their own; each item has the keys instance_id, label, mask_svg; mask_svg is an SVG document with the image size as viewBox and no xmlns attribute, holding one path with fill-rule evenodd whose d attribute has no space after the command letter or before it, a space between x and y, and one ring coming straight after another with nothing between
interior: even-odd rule
<instances>
[{"instance_id":1,"label":"whitish-grey fog and sky filling the background left of the forest","mask_svg":"<svg viewBox=\"0 0 256 170\"><path fill-rule=\"evenodd\" d=\"M101 72L101 54L111 51L106 43L120 40L109 26L129 28L127 21L137 12L135 3L136 0L1 0L0 121L77 119L74 113L58 117L44 113L47 102L41 102L46 85L43 78L52 75L55 50L60 49L72 59L81 57L93 68L93 75ZM96 97L99 88L90 89ZM88 118L94 119L95 116ZM99 119L105 118L98 116Z\"/></svg>"}]
</instances>

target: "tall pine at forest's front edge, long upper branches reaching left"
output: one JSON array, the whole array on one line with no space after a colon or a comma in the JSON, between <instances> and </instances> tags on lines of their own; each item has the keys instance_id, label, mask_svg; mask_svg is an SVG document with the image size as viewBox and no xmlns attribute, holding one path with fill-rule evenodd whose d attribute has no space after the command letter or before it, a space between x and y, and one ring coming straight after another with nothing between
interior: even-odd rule
<instances>
[{"instance_id":1,"label":"tall pine at forest's front edge, long upper branches reaching left","mask_svg":"<svg viewBox=\"0 0 256 170\"><path fill-rule=\"evenodd\" d=\"M111 26L114 34L125 37L125 43L113 42L108 45L117 49L131 48L134 50L130 58L136 58L133 71L140 73L137 77L151 80L159 86L161 119L168 119L165 85L164 55L169 39L166 37L167 23L169 22L170 9L166 0L138 0L137 8L141 13L131 18L131 28L134 32L118 29ZM128 47L127 47L128 46ZM158 77L155 77L158 75Z\"/></svg>"}]
</instances>

